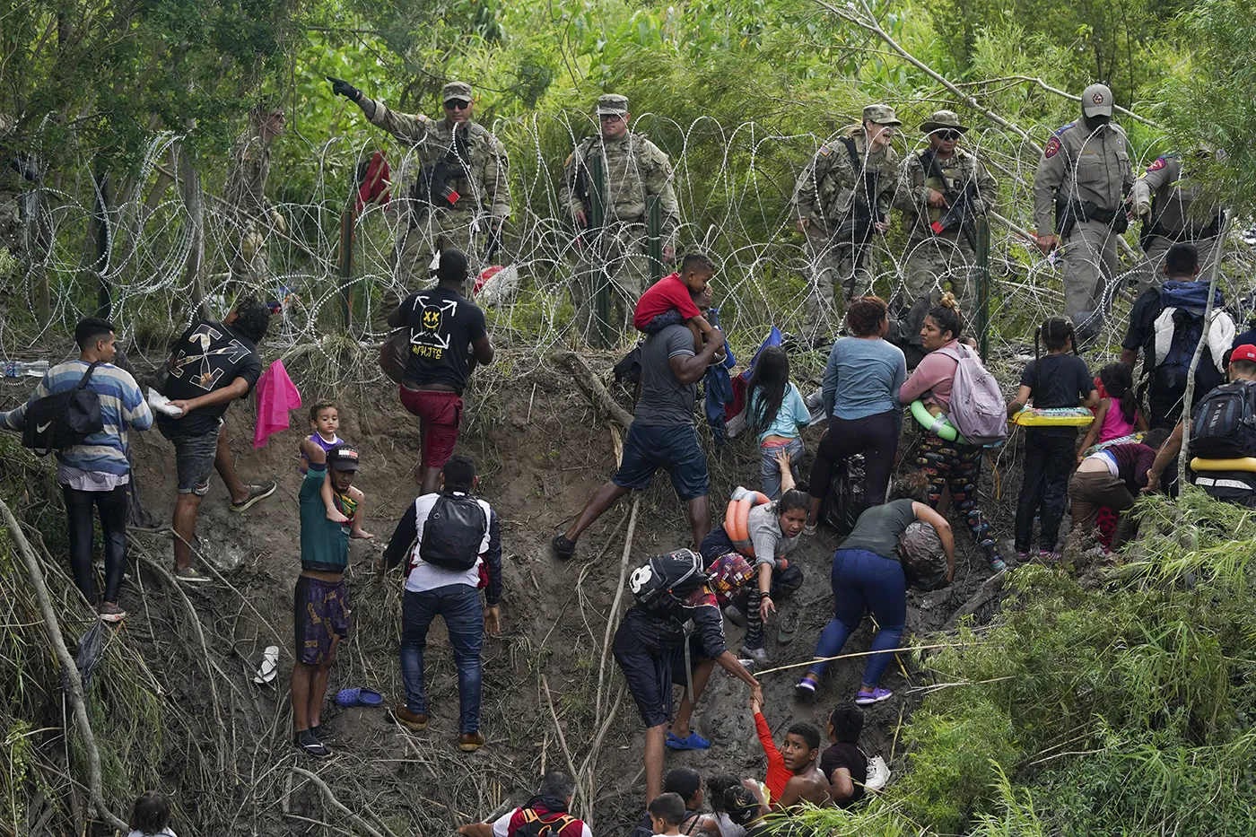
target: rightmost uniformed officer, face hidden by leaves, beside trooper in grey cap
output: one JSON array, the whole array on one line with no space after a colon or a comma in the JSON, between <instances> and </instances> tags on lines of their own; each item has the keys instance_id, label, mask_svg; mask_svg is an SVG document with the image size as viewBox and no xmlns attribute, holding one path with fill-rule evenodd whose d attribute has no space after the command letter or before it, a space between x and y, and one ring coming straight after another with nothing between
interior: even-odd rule
<instances>
[{"instance_id":1,"label":"rightmost uniformed officer, face hidden by leaves, beside trooper in grey cap","mask_svg":"<svg viewBox=\"0 0 1256 837\"><path fill-rule=\"evenodd\" d=\"M1203 163L1212 157L1206 148L1197 148L1186 166L1178 155L1157 157L1147 167L1130 192L1134 217L1143 220L1139 243L1147 258L1139 265L1139 279L1152 283L1161 278L1164 254L1177 243L1193 244L1199 253L1201 278L1212 269L1212 250L1225 224L1225 211L1213 201L1197 201L1199 182L1191 177L1191 162Z\"/></svg>"}]
</instances>

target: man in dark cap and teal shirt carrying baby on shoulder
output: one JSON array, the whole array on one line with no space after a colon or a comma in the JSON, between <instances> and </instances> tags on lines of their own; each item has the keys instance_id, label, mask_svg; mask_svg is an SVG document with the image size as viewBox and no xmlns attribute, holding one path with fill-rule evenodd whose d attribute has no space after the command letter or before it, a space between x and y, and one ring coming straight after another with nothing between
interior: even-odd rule
<instances>
[{"instance_id":1,"label":"man in dark cap and teal shirt carrying baby on shoulder","mask_svg":"<svg viewBox=\"0 0 1256 837\"><path fill-rule=\"evenodd\" d=\"M344 524L328 520L322 491L325 479L338 498L348 494L358 475L358 451L352 445L338 445L324 452L304 439L301 452L309 461L309 473L300 490L301 574L293 596L296 638L293 729L298 749L306 755L327 758L332 750L323 743L319 713L335 650L349 635L349 587L344 583L344 568L349 563L353 520Z\"/></svg>"}]
</instances>

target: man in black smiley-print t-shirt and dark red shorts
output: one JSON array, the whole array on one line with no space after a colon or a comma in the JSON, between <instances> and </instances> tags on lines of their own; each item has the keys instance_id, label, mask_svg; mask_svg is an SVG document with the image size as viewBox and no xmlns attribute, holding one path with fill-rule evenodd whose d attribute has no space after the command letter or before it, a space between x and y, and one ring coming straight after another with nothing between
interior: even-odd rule
<instances>
[{"instance_id":1,"label":"man in black smiley-print t-shirt and dark red shorts","mask_svg":"<svg viewBox=\"0 0 1256 837\"><path fill-rule=\"evenodd\" d=\"M421 494L436 491L441 469L453 455L467 378L477 362L492 363L484 312L461 293L466 278L466 255L445 250L436 287L411 294L388 314L393 328L409 327L401 402L418 416L423 452L416 479Z\"/></svg>"}]
</instances>

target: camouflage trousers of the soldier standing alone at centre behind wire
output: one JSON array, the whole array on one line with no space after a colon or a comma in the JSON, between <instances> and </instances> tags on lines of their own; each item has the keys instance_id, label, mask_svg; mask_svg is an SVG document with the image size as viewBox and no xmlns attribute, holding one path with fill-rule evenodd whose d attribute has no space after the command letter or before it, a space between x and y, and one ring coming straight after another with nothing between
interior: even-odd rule
<instances>
[{"instance_id":1,"label":"camouflage trousers of the soldier standing alone at centre behind wire","mask_svg":"<svg viewBox=\"0 0 1256 837\"><path fill-rule=\"evenodd\" d=\"M624 334L632 334L632 315L637 300L651 279L646 229L641 225L615 225L590 241L582 236L571 278L573 326L577 339L585 344L598 342L598 292L610 294L607 333L612 346Z\"/></svg>"}]
</instances>

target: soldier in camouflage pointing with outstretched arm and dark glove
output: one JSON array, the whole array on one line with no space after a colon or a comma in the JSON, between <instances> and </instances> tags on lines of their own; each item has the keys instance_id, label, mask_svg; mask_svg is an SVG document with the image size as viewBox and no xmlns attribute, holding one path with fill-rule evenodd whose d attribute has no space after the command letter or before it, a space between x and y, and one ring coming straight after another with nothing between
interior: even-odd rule
<instances>
[{"instance_id":1,"label":"soldier in camouflage pointing with outstretched arm and dark glove","mask_svg":"<svg viewBox=\"0 0 1256 837\"><path fill-rule=\"evenodd\" d=\"M435 256L448 248L466 254L471 266L468 278L476 276L484 269L476 240L500 240L501 227L510 216L510 186L505 146L471 121L475 107L471 85L446 84L441 90L445 118L433 122L422 113L391 111L348 82L330 80L332 90L357 103L372 124L414 150L423 170L417 178L402 176L398 182L411 180L431 186L430 196L421 196L421 189L411 192L408 217L397 238L397 280L407 287L413 282L426 283ZM436 182L443 176L440 172L447 173L445 189L441 191Z\"/></svg>"}]
</instances>

